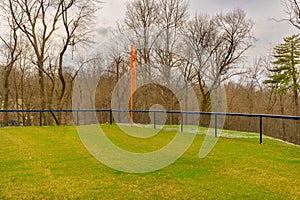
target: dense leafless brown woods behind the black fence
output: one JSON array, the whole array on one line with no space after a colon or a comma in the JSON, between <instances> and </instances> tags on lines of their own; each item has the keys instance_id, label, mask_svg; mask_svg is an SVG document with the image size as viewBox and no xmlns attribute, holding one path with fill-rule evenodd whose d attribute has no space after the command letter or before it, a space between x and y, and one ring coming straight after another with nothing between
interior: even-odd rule
<instances>
[{"instance_id":1,"label":"dense leafless brown woods behind the black fence","mask_svg":"<svg viewBox=\"0 0 300 200\"><path fill-rule=\"evenodd\" d=\"M255 24L242 9L192 14L186 0L124 3L124 19L99 44L93 26L102 1L1 1L1 110L74 109L76 95L96 109L122 109L128 106L123 94L128 88L122 83L129 82L130 45L134 44L140 85L133 96L135 110L149 110L156 104L166 110L188 110L193 104L199 111L299 116L298 34L282 38L268 55L249 61L246 55L255 45ZM297 29L299 6L298 0L285 0L282 7L286 12L282 20ZM74 95L80 86L76 81L86 84ZM177 92L184 93L184 88L192 88L197 102L184 94L183 100L178 99ZM226 96L219 99L221 107L214 108L212 98L220 88ZM122 99L125 103L121 105ZM187 102L186 108L181 101ZM85 109L84 105L76 108ZM33 113L0 115L2 126L11 120L27 126L38 124ZM101 123L108 121L107 115L98 117ZM136 123L150 120L145 114L134 117ZM180 116L169 115L166 123L179 121ZM207 125L208 121L204 117L200 123ZM43 115L44 125L73 123L70 113ZM258 123L227 117L224 128L258 132ZM264 124L265 134L300 144L299 122L268 119Z\"/></svg>"}]
</instances>

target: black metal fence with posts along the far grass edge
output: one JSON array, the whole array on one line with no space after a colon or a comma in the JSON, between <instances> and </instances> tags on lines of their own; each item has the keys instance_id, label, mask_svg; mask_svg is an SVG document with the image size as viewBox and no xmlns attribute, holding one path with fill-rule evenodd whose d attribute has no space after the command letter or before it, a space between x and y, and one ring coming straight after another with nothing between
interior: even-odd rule
<instances>
[{"instance_id":1,"label":"black metal fence with posts along the far grass edge","mask_svg":"<svg viewBox=\"0 0 300 200\"><path fill-rule=\"evenodd\" d=\"M55 113L70 113L73 114L73 122L74 125L80 124L79 113L101 113L106 114L106 119L108 119L107 123L113 124L114 117L113 113L148 113L153 114L153 128L156 128L156 115L157 113L166 113L166 114L176 114L179 116L180 120L178 125L180 125L181 131L184 131L184 126L188 124L184 124L184 117L187 115L200 115L200 116L213 116L214 124L215 124L215 136L218 135L218 127L217 120L220 116L232 116L232 117L247 117L247 118L255 118L258 121L258 129L260 135L260 144L263 142L263 126L265 125L265 119L282 119L282 120L293 120L300 121L300 116L283 116L283 115L269 115L269 114L242 114L242 113L224 113L224 112L188 112L188 111L160 111L160 110L0 110L0 113L11 113L11 114L24 114L30 113L35 114L35 121L39 121L39 126L43 126L43 116L45 113L51 113L52 115ZM74 115L75 114L75 115ZM14 119L13 122L16 120ZM103 122L103 121L102 121ZM13 123L12 125L17 125L18 123ZM28 124L22 123L22 125L26 126ZM31 124L30 124L31 125ZM299 134L298 136L299 137ZM299 138L297 138L296 143L299 143Z\"/></svg>"}]
</instances>

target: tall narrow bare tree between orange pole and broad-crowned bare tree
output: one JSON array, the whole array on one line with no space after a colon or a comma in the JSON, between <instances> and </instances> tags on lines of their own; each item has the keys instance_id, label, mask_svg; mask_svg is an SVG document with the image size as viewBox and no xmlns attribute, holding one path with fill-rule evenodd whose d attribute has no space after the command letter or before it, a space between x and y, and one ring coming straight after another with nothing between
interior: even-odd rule
<instances>
[{"instance_id":1,"label":"tall narrow bare tree between orange pole and broad-crowned bare tree","mask_svg":"<svg viewBox=\"0 0 300 200\"><path fill-rule=\"evenodd\" d=\"M171 83L176 82L172 77L172 70L180 71L183 63L181 55L182 38L180 30L188 19L188 1L186 0L159 0L159 20L157 27L161 30L155 43L154 59L158 72L164 77L166 88L171 88ZM172 80L173 78L173 80ZM161 89L161 88L159 88ZM178 88L178 91L180 92ZM174 91L172 91L174 92ZM169 109L178 109L178 99L168 90L163 91L162 101L169 105ZM181 108L186 109L186 108ZM169 123L177 119L169 116Z\"/></svg>"}]
</instances>

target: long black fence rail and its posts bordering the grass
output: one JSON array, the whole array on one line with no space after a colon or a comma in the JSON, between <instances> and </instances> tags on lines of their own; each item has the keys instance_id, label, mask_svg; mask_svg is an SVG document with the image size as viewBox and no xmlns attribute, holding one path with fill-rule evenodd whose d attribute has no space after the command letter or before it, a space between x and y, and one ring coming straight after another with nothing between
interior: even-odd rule
<instances>
[{"instance_id":1,"label":"long black fence rail and its posts bordering the grass","mask_svg":"<svg viewBox=\"0 0 300 200\"><path fill-rule=\"evenodd\" d=\"M40 126L43 125L43 113L109 113L109 123L113 123L113 113L153 113L154 128L156 128L155 115L156 113L180 114L181 115L181 131L184 129L183 115L210 115L215 119L215 136L218 134L217 118L218 116L234 116L234 117L248 117L259 119L259 134L260 144L263 143L263 119L284 119L300 121L300 116L286 116L286 115L270 115L270 114L245 114L245 113L226 113L226 112L199 112L199 111L176 111L176 110L0 110L0 113L39 113ZM78 120L78 117L77 117ZM78 124L78 122L77 122Z\"/></svg>"}]
</instances>

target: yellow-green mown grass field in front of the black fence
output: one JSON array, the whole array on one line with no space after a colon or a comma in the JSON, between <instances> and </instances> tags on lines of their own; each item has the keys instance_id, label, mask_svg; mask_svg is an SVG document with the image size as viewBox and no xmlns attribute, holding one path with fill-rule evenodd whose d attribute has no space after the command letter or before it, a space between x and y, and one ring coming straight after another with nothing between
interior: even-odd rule
<instances>
[{"instance_id":1,"label":"yellow-green mown grass field in front of the black fence","mask_svg":"<svg viewBox=\"0 0 300 200\"><path fill-rule=\"evenodd\" d=\"M158 149L175 132L133 139L103 125L120 147ZM142 129L141 129L142 130ZM229 134L229 132L228 132ZM300 199L300 148L265 138L220 138L198 158L199 135L172 165L147 174L106 167L81 143L74 127L0 129L0 199Z\"/></svg>"}]
</instances>

